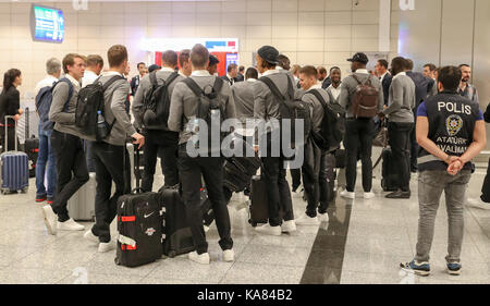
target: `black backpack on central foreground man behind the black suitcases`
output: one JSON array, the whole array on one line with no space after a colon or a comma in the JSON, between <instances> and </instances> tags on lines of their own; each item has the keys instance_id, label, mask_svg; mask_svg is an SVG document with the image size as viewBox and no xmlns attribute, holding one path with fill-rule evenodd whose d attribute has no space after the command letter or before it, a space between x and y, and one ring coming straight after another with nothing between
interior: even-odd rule
<instances>
[{"instance_id":1,"label":"black backpack on central foreground man behind the black suitcases","mask_svg":"<svg viewBox=\"0 0 490 306\"><path fill-rule=\"evenodd\" d=\"M191 90L193 90L193 93L196 95L197 97L197 109L196 109L196 118L197 119L201 119L204 121L206 121L207 125L208 125L208 152L217 152L217 151L221 151L221 140L224 138L225 133L221 132L221 124L224 121L224 109L222 107L221 103L221 88L223 88L223 84L224 81L220 77L217 77L215 81L213 86L207 86L205 87L205 89L203 90L199 85L192 79L191 77L185 78L184 81L185 85L188 86L188 88L191 88ZM216 120L217 115L219 114L219 120ZM219 124L219 131L220 131L220 143L219 143L219 147L217 146L211 146L212 142L211 142L211 126L215 126L216 128L218 128L218 124ZM187 125L188 127L188 125ZM194 126L193 130L194 134L198 134L198 128L196 130L197 126ZM196 149L199 149L199 151L201 151L203 148L200 147L200 145L198 143L196 143L195 145Z\"/></svg>"}]
</instances>

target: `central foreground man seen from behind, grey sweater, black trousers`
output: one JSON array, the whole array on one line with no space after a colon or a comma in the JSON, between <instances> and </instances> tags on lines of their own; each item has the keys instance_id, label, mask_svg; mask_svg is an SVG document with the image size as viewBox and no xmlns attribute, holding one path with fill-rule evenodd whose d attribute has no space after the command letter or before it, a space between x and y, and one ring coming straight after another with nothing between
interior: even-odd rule
<instances>
[{"instance_id":1,"label":"central foreground man seen from behind, grey sweater, black trousers","mask_svg":"<svg viewBox=\"0 0 490 306\"><path fill-rule=\"evenodd\" d=\"M215 212L216 225L220 234L220 246L223 250L223 260L233 261L233 240L231 237L230 215L226 200L223 195L223 168L220 150L199 148L199 155L194 157L187 151L187 147L194 146L194 133L192 127L197 117L196 105L198 96L191 86L198 86L195 90L212 93L216 82L222 82L218 101L224 119L235 118L235 107L230 85L221 78L210 75L207 71L209 64L209 51L203 45L196 45L191 51L193 72L191 79L180 82L172 93L169 115L169 130L180 132L179 137L179 171L182 181L183 199L186 207L187 221L193 234L196 250L189 253L188 258L201 265L209 265L208 243L203 227L203 207L200 200L201 178L204 178L209 199ZM218 81L217 81L218 79ZM189 82L188 84L185 82ZM210 95L208 95L210 96ZM211 98L210 98L211 99ZM203 152L201 150L206 150Z\"/></svg>"}]
</instances>

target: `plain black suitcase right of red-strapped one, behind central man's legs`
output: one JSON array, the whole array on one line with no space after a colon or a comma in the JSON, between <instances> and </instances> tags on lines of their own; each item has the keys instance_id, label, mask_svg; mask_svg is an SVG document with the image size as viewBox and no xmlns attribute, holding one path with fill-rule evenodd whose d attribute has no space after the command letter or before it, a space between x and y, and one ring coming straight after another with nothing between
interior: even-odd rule
<instances>
[{"instance_id":1,"label":"plain black suitcase right of red-strapped one, behind central man's legs","mask_svg":"<svg viewBox=\"0 0 490 306\"><path fill-rule=\"evenodd\" d=\"M160 191L161 203L164 206L163 213L163 254L169 257L191 253L195 249L193 234L187 223L185 204L181 198L180 187L163 186ZM209 224L215 220L210 211L211 203L205 188L200 191L204 220ZM211 210L212 211L212 210ZM209 216L208 216L209 215ZM212 220L210 220L212 219Z\"/></svg>"}]
</instances>

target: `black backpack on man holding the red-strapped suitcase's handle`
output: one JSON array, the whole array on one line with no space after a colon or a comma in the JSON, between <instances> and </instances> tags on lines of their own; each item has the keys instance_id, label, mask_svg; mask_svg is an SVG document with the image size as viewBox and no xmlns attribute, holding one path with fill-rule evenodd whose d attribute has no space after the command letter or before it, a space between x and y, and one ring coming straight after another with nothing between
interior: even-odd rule
<instances>
[{"instance_id":1,"label":"black backpack on man holding the red-strapped suitcase's handle","mask_svg":"<svg viewBox=\"0 0 490 306\"><path fill-rule=\"evenodd\" d=\"M75 126L78 127L83 134L97 136L97 112L100 110L102 115L105 115L103 91L106 91L112 83L120 79L125 78L121 75L114 75L102 85L100 77L98 77L93 84L79 89L75 109ZM109 133L114 123L115 119L111 125L106 123ZM101 140L99 137L97 138L97 140Z\"/></svg>"}]
</instances>

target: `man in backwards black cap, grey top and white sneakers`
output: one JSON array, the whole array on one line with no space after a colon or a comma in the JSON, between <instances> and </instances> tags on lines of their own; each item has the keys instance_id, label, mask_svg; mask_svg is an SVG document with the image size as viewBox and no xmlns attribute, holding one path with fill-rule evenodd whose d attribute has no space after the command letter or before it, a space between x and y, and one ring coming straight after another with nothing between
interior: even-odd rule
<instances>
[{"instance_id":1,"label":"man in backwards black cap, grey top and white sneakers","mask_svg":"<svg viewBox=\"0 0 490 306\"><path fill-rule=\"evenodd\" d=\"M281 57L284 60L284 57ZM264 46L257 51L257 70L262 77L267 77L280 90L283 97L295 95L295 86L293 77L284 70L277 69L280 57L279 51L271 46ZM284 64L284 61L282 62ZM287 65L287 62L286 62ZM286 66L285 65L285 66ZM286 66L287 68L287 66ZM289 93L291 90L292 94ZM282 150L272 154L272 146L282 148L279 103L283 101L275 97L269 86L262 81L254 84L254 117L261 122L264 128L259 128L258 135L259 146L256 150L260 150L262 158L262 175L268 186L269 199L269 223L257 227L255 230L262 234L279 236L283 232L296 231L294 221L293 203L291 199L291 191L285 179L285 158ZM262 131L260 131L262 130ZM265 147L267 146L267 149ZM281 218L280 210L283 216Z\"/></svg>"}]
</instances>

